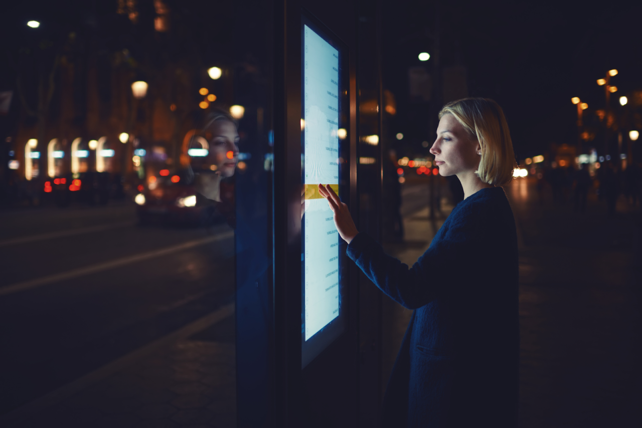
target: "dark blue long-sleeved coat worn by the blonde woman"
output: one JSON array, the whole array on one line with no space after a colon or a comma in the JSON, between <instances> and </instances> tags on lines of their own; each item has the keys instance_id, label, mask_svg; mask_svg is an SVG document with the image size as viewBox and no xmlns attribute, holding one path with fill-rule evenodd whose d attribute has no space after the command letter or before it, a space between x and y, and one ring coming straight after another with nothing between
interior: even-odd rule
<instances>
[{"instance_id":1,"label":"dark blue long-sleeved coat worn by the blonde woman","mask_svg":"<svg viewBox=\"0 0 642 428\"><path fill-rule=\"evenodd\" d=\"M382 427L516 427L517 235L503 189L456 205L412 268L367 234L347 254L381 291L415 309Z\"/></svg>"}]
</instances>

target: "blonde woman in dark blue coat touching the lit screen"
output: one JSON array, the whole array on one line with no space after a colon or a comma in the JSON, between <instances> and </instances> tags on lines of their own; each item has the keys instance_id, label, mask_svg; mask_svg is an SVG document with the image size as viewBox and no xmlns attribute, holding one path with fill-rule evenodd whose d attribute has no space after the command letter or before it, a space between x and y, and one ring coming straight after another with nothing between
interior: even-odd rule
<instances>
[{"instance_id":1,"label":"blonde woman in dark blue coat touching the lit screen","mask_svg":"<svg viewBox=\"0 0 642 428\"><path fill-rule=\"evenodd\" d=\"M415 309L388 381L384 427L516 427L519 370L517 237L501 185L515 160L491 99L453 101L430 149L464 188L424 255L408 268L359 233L329 186L347 254L377 287Z\"/></svg>"}]
</instances>

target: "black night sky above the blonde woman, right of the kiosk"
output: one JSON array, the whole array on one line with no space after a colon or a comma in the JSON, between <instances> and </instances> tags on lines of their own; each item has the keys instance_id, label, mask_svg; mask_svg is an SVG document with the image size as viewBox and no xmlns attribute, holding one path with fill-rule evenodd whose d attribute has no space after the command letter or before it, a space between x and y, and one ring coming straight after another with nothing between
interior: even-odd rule
<instances>
[{"instance_id":1,"label":"black night sky above the blonde woman, right of the kiosk","mask_svg":"<svg viewBox=\"0 0 642 428\"><path fill-rule=\"evenodd\" d=\"M394 92L399 112L390 133L415 135L412 147L421 151L421 137L413 131L417 107L407 99L407 73L410 65L431 69L432 58L421 63L417 55L434 51L427 35L435 31L435 3L383 4L384 87ZM612 106L619 107L621 95L642 89L639 1L465 1L444 2L440 8L442 65L465 65L469 95L498 101L518 158L541 154L550 142L577 141L571 98L588 103L589 112L603 108L603 87L596 80L607 70L620 72L611 81L618 87Z\"/></svg>"}]
</instances>

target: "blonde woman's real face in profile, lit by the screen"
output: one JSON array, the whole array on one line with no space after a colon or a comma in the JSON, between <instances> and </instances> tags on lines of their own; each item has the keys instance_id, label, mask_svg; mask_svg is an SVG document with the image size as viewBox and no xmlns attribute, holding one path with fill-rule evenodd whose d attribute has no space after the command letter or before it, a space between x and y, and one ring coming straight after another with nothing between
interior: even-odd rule
<instances>
[{"instance_id":1,"label":"blonde woman's real face in profile, lit by the screen","mask_svg":"<svg viewBox=\"0 0 642 428\"><path fill-rule=\"evenodd\" d=\"M437 127L437 139L430 148L435 155L439 175L449 176L474 172L479 166L479 143L471 138L452 114L444 114Z\"/></svg>"}]
</instances>

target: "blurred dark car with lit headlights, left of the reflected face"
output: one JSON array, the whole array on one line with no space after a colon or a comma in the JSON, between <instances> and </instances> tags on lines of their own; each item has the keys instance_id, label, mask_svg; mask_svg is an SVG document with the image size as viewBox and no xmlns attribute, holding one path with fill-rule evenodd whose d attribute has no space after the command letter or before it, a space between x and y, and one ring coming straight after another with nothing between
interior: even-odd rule
<instances>
[{"instance_id":1,"label":"blurred dark car with lit headlights, left of the reflected face","mask_svg":"<svg viewBox=\"0 0 642 428\"><path fill-rule=\"evenodd\" d=\"M184 224L210 225L225 219L214 214L211 204L197 199L193 184L185 184L180 175L154 177L148 185L139 185L134 196L141 225ZM198 202L198 203L197 203Z\"/></svg>"}]
</instances>

